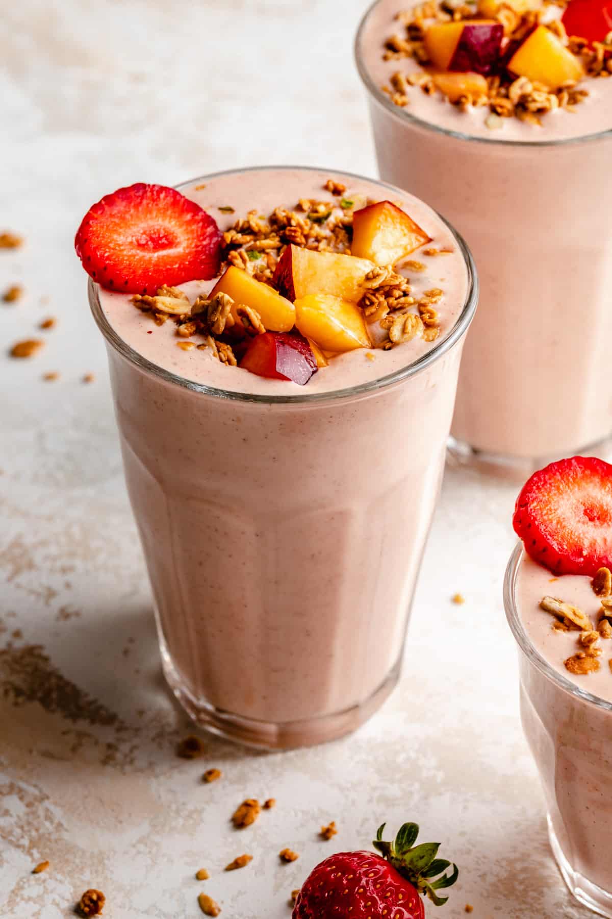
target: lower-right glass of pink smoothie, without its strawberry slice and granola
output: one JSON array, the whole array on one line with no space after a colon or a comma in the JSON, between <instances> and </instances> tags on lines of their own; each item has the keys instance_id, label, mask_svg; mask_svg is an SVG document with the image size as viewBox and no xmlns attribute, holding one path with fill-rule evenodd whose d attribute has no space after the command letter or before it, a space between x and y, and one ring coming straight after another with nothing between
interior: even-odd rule
<instances>
[{"instance_id":1,"label":"lower-right glass of pink smoothie, without its strawberry slice and granola","mask_svg":"<svg viewBox=\"0 0 612 919\"><path fill-rule=\"evenodd\" d=\"M553 579L519 544L506 570L504 603L519 648L521 720L540 772L552 852L573 896L612 916L610 652L597 673L572 677L563 658L576 651L580 633L551 628L551 615L539 608L550 595L584 612L598 606L590 578Z\"/></svg>"}]
</instances>

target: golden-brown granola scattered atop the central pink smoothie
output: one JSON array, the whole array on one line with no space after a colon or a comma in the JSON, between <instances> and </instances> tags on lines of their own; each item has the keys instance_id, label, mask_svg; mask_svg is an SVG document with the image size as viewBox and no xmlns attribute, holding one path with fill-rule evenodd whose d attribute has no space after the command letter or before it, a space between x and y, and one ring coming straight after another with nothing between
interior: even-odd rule
<instances>
[{"instance_id":1,"label":"golden-brown granola scattered atop the central pink smoothie","mask_svg":"<svg viewBox=\"0 0 612 919\"><path fill-rule=\"evenodd\" d=\"M273 283L279 258L287 245L318 252L351 255L352 214L373 203L363 195L343 197L346 187L333 179L323 186L337 200L300 199L295 210L275 208L264 217L250 210L223 233L221 271L229 265L241 268L264 284ZM231 210L225 208L220 210ZM428 248L424 255L444 255L444 250ZM411 273L422 272L422 262L404 263ZM379 346L389 350L416 335L432 342L440 335L439 313L435 309L443 296L436 288L420 298L412 296L410 282L393 267L374 268L363 281L366 290L360 306L370 322L377 321L387 333ZM225 293L211 299L199 296L192 304L183 290L163 285L154 296L136 294L131 298L157 325L168 320L176 324L177 346L184 350L210 350L222 364L235 367L239 352L253 335L265 332L261 315L245 304L236 303ZM199 340L193 341L198 336Z\"/></svg>"}]
</instances>

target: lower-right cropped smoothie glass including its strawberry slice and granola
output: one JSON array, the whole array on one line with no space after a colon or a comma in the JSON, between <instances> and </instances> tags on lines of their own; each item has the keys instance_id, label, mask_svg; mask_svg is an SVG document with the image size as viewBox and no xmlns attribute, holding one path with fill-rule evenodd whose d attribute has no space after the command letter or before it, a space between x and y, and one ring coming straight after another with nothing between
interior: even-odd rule
<instances>
[{"instance_id":1,"label":"lower-right cropped smoothie glass including its strawberry slice and granola","mask_svg":"<svg viewBox=\"0 0 612 919\"><path fill-rule=\"evenodd\" d=\"M573 896L612 917L612 466L575 457L536 472L514 525L506 616L551 847Z\"/></svg>"}]
</instances>

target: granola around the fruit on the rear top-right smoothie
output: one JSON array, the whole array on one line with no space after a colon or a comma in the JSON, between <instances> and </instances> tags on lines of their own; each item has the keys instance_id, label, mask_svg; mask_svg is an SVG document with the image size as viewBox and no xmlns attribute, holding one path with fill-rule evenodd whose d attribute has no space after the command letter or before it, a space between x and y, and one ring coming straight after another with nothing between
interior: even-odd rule
<instances>
[{"instance_id":1,"label":"granola around the fruit on the rear top-right smoothie","mask_svg":"<svg viewBox=\"0 0 612 919\"><path fill-rule=\"evenodd\" d=\"M584 73L591 77L612 75L612 32L606 39L595 41L593 47L579 36L568 36L560 19L550 19L550 6L564 8L569 0L548 0L539 10L529 10L523 15L512 6L502 3L487 18L496 19L504 27L506 40L519 42L537 25L551 29L583 63ZM412 86L419 86L427 95L441 92L431 74L428 72L428 52L425 47L425 30L434 23L470 21L483 17L482 11L475 2L457 5L452 0L428 0L412 9L397 14L396 21L404 34L396 31L384 43L384 61L401 61L412 58L422 71L403 74L396 71L389 79L389 85L382 86L391 101L399 108L409 103L409 92ZM521 76L514 79L506 72L495 74L486 80L487 93L483 96L466 94L452 104L466 110L471 106L489 109L485 119L487 128L494 130L501 127L505 118L517 118L533 124L541 124L541 116L555 108L572 111L588 96L588 90L579 88L575 82L568 82L559 89L551 89L541 83L532 82Z\"/></svg>"}]
</instances>

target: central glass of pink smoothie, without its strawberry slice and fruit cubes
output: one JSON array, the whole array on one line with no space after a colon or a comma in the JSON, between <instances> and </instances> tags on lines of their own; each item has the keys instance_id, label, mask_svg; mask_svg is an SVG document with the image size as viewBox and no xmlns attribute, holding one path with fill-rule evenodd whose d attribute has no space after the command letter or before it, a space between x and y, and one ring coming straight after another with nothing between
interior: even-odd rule
<instances>
[{"instance_id":1,"label":"central glass of pink smoothie, without its strawberry slice and fruit cubes","mask_svg":"<svg viewBox=\"0 0 612 919\"><path fill-rule=\"evenodd\" d=\"M341 192L325 188L330 178ZM224 736L268 748L320 743L368 718L399 674L475 306L470 255L420 200L359 176L275 167L180 190L224 240L249 212L255 221L295 213L300 199L298 212L312 208L319 226L344 211L338 238L358 202L391 199L429 240L395 266L406 297L409 278L414 305L403 302L417 334L391 347L389 323L370 315L372 346L328 348L328 366L303 386L228 366L197 333L183 341L188 328L90 287L170 686ZM300 225L280 231L283 248L301 244ZM253 257L269 285L264 243L238 233L244 270L253 274ZM447 255L425 254L434 248ZM180 285L187 312L215 284ZM436 301L430 333L426 295Z\"/></svg>"}]
</instances>

